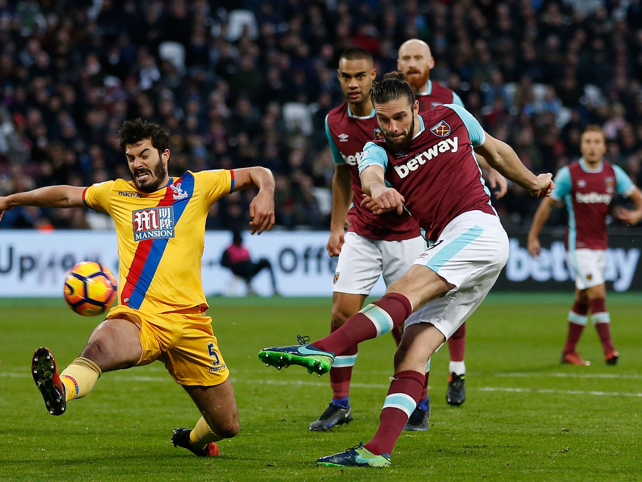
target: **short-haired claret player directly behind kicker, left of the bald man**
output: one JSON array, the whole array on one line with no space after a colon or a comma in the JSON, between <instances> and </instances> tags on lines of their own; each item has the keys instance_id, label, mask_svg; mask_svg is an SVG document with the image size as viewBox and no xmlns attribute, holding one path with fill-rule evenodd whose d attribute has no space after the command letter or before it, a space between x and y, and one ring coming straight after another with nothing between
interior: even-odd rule
<instances>
[{"instance_id":1,"label":"short-haired claret player directly behind kicker, left of the bald man","mask_svg":"<svg viewBox=\"0 0 642 482\"><path fill-rule=\"evenodd\" d=\"M331 332L363 307L382 275L386 284L397 281L426 248L417 222L406 211L377 216L360 204L363 200L358 166L361 151L368 141L381 138L370 101L370 86L376 77L372 55L363 48L347 49L339 59L337 73L346 102L332 109L325 118L325 134L334 159L333 211L327 252L339 257L334 273ZM344 233L346 219L349 228ZM392 334L398 345L401 326ZM356 359L356 344L336 353L330 370L333 398L325 412L309 425L311 431L327 431L352 420L349 391ZM427 399L422 407L424 410L417 415L415 425L417 429L428 429Z\"/></svg>"}]
</instances>

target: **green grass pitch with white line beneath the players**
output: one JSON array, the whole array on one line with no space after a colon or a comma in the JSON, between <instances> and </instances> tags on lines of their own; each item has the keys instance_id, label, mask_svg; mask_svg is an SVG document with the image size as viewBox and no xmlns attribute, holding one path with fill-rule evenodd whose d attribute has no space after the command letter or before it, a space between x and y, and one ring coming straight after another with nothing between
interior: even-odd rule
<instances>
[{"instance_id":1,"label":"green grass pitch with white line beneath the players","mask_svg":"<svg viewBox=\"0 0 642 482\"><path fill-rule=\"evenodd\" d=\"M639 294L609 296L621 353L615 367L604 364L591 326L580 352L593 364L558 363L570 294L489 296L467 326L465 404L446 404L444 348L433 357L429 431L402 434L392 468L369 470L315 460L376 430L392 338L360 347L354 422L309 433L331 395L327 375L266 368L256 354L295 343L297 334L325 335L329 299L211 301L241 433L220 443L219 458L204 460L169 443L171 430L192 427L198 411L159 362L105 373L64 416L48 415L29 375L31 353L46 345L65 366L100 320L76 316L59 300L1 300L0 481L642 480Z\"/></svg>"}]
</instances>

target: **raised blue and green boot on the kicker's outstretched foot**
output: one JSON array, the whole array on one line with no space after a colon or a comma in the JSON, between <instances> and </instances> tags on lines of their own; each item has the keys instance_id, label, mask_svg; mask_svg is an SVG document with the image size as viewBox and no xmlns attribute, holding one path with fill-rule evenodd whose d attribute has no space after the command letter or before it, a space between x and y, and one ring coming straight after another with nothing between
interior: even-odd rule
<instances>
[{"instance_id":1,"label":"raised blue and green boot on the kicker's outstretched foot","mask_svg":"<svg viewBox=\"0 0 642 482\"><path fill-rule=\"evenodd\" d=\"M325 352L308 343L309 336L297 335L298 345L292 346L275 346L273 348L263 348L259 352L259 359L266 366L275 366L279 370L290 365L300 365L308 370L309 373L317 373L320 377L330 371L334 361L333 352Z\"/></svg>"}]
</instances>

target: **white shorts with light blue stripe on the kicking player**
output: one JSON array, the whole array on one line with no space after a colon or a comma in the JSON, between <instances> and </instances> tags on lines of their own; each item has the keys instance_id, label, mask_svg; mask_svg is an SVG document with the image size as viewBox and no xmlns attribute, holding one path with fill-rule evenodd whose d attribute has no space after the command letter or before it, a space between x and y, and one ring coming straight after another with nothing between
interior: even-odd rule
<instances>
[{"instance_id":1,"label":"white shorts with light blue stripe on the kicking player","mask_svg":"<svg viewBox=\"0 0 642 482\"><path fill-rule=\"evenodd\" d=\"M498 217L482 211L459 215L413 263L455 287L413 312L404 328L431 323L449 339L482 304L507 261L508 236Z\"/></svg>"}]
</instances>

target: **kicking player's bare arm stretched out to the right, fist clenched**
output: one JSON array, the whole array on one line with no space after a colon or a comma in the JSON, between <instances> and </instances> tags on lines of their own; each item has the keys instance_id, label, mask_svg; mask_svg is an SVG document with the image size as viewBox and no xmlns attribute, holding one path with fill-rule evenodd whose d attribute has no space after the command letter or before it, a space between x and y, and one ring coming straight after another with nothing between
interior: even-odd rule
<instances>
[{"instance_id":1,"label":"kicking player's bare arm stretched out to the right, fist clenched","mask_svg":"<svg viewBox=\"0 0 642 482\"><path fill-rule=\"evenodd\" d=\"M507 177L534 197L548 197L553 190L553 175L550 173L535 175L521 163L516 152L507 143L503 143L485 133L485 141L474 148L477 154L486 159L490 167Z\"/></svg>"}]
</instances>

